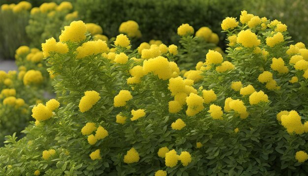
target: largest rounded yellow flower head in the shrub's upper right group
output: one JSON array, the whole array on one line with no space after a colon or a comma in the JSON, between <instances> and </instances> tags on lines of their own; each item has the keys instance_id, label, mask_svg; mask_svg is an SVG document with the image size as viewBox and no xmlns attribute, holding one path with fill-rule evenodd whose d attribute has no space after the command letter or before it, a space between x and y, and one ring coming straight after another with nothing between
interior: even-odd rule
<instances>
[{"instance_id":1,"label":"largest rounded yellow flower head in the shrub's upper right group","mask_svg":"<svg viewBox=\"0 0 308 176\"><path fill-rule=\"evenodd\" d=\"M237 36L237 43L242 44L246 48L252 48L260 45L261 41L258 39L257 35L251 32L250 29L241 30Z\"/></svg>"}]
</instances>

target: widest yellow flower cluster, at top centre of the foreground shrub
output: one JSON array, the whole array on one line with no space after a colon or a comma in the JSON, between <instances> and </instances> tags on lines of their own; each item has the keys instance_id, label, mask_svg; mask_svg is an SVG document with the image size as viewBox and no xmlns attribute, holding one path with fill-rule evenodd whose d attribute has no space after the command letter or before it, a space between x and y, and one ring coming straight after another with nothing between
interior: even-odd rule
<instances>
[{"instance_id":1,"label":"widest yellow flower cluster, at top centre of the foreground shrub","mask_svg":"<svg viewBox=\"0 0 308 176\"><path fill-rule=\"evenodd\" d=\"M168 59L158 56L143 62L143 72L144 74L153 73L157 75L159 79L167 80L177 77L180 73L180 69L175 62L169 62Z\"/></svg>"}]
</instances>

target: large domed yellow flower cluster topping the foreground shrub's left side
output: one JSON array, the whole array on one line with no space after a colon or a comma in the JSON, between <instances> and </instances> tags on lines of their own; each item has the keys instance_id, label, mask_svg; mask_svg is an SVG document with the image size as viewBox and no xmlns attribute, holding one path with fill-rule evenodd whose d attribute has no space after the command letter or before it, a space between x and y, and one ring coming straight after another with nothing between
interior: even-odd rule
<instances>
[{"instance_id":1,"label":"large domed yellow flower cluster topping the foreground shrub's left side","mask_svg":"<svg viewBox=\"0 0 308 176\"><path fill-rule=\"evenodd\" d=\"M73 21L69 26L65 26L59 39L61 42L80 42L86 39L87 26L83 21Z\"/></svg>"}]
</instances>

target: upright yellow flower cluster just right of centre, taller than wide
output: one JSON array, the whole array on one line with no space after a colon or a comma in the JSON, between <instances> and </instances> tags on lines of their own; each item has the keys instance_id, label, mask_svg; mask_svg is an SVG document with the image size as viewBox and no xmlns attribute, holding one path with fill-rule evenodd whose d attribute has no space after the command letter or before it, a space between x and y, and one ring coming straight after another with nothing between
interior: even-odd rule
<instances>
[{"instance_id":1,"label":"upright yellow flower cluster just right of centre, taller than wide","mask_svg":"<svg viewBox=\"0 0 308 176\"><path fill-rule=\"evenodd\" d=\"M204 109L203 98L195 93L190 93L186 98L187 110L186 115L191 117L198 114Z\"/></svg>"}]
</instances>

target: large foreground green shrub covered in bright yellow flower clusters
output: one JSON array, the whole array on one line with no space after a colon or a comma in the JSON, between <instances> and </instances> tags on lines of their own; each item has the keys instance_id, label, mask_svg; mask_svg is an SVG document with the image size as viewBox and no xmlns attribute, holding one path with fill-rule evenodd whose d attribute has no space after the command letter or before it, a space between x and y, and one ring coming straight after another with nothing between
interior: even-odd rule
<instances>
[{"instance_id":1,"label":"large foreground green shrub covered in bright yellow flower clusters","mask_svg":"<svg viewBox=\"0 0 308 176\"><path fill-rule=\"evenodd\" d=\"M58 96L32 108L37 121L24 138L7 136L0 173L307 172L308 50L288 46L287 26L277 20L246 11L239 19L221 24L227 55L209 50L186 72L173 61L185 58L181 47L152 41L133 50L124 34L107 45L92 41L84 22L72 22L59 40L42 44ZM217 38L208 31L193 37L183 25L178 34L183 41Z\"/></svg>"}]
</instances>

